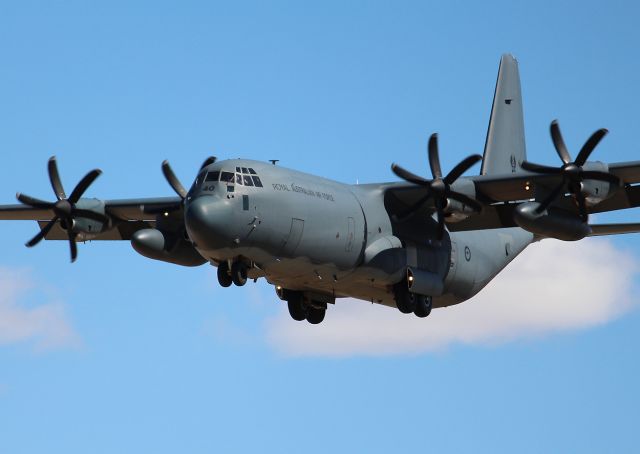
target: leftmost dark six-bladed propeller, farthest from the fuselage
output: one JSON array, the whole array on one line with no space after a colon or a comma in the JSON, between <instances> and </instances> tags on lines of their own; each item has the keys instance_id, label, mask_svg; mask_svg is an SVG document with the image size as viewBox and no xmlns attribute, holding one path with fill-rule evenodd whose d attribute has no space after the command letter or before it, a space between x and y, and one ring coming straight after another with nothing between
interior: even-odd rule
<instances>
[{"instance_id":1,"label":"leftmost dark six-bladed propeller, farthest from the fuselage","mask_svg":"<svg viewBox=\"0 0 640 454\"><path fill-rule=\"evenodd\" d=\"M19 192L16 194L18 200L24 205L36 208L38 210L51 210L54 215L53 218L44 226L44 228L26 243L26 246L33 247L38 244L45 236L47 236L56 222L60 221L60 223L65 226L67 230L67 236L69 238L69 248L71 249L71 262L75 262L76 258L78 257L78 248L76 245L77 233L73 232L72 230L73 219L76 217L82 217L92 219L104 224L109 222L109 218L104 214L76 207L78 200L80 200L82 195L89 188L89 186L91 186L95 179L100 176L102 171L100 169L94 169L87 173L76 185L76 187L73 188L73 191L71 191L71 195L67 197L64 191L64 187L62 186L62 181L60 180L58 164L55 156L49 158L47 169L49 173L49 181L51 182L51 187L53 188L53 192L56 195L57 199L55 202L45 202L44 200L36 199L35 197L21 194Z\"/></svg>"}]
</instances>

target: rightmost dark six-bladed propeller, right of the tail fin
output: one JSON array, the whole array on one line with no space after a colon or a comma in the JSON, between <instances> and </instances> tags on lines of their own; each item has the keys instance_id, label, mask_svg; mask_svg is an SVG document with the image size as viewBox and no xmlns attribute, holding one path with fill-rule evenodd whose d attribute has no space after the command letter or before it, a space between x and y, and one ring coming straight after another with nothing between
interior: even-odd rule
<instances>
[{"instance_id":1,"label":"rightmost dark six-bladed propeller, right of the tail fin","mask_svg":"<svg viewBox=\"0 0 640 454\"><path fill-rule=\"evenodd\" d=\"M550 131L553 146L555 147L558 156L560 156L560 159L562 160L562 165L560 167L550 167L541 164L534 164L528 161L522 162L522 168L528 170L529 172L546 175L560 175L562 177L562 182L555 189L553 189L553 191L551 191L546 199L542 201L536 211L538 213L542 213L544 210L546 210L549 205L551 205L551 203L553 203L553 201L560 195L566 184L568 186L569 192L573 194L576 201L578 202L580 217L584 222L587 222L587 220L589 219L589 213L587 213L585 195L582 193L580 183L582 183L583 180L598 180L611 183L615 186L620 184L620 179L609 172L584 170L582 168L589 159L589 156L591 156L591 153L593 153L593 150L595 150L596 146L600 143L604 136L607 135L609 131L602 128L591 134L591 137L587 139L587 141L580 149L578 157L575 161L571 160L571 155L567 150L567 146L565 145L564 139L562 138L562 133L560 132L558 120L553 120L551 122Z\"/></svg>"}]
</instances>

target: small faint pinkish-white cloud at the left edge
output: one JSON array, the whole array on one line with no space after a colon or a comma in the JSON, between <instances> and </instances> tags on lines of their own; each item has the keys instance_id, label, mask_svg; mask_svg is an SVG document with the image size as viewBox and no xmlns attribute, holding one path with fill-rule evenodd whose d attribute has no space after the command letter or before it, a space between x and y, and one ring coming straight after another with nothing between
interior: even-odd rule
<instances>
[{"instance_id":1,"label":"small faint pinkish-white cloud at the left edge","mask_svg":"<svg viewBox=\"0 0 640 454\"><path fill-rule=\"evenodd\" d=\"M24 270L0 268L0 345L32 343L37 350L77 346L64 305L25 303L33 283Z\"/></svg>"}]
</instances>

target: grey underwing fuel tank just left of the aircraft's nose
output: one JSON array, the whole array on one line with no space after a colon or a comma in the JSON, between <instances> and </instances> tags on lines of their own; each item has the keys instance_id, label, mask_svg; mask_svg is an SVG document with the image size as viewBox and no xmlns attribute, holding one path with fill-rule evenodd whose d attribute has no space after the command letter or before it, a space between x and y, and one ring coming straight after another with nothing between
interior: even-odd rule
<instances>
[{"instance_id":1,"label":"grey underwing fuel tank just left of the aircraft's nose","mask_svg":"<svg viewBox=\"0 0 640 454\"><path fill-rule=\"evenodd\" d=\"M200 266L207 260L184 238L157 229L142 229L131 237L131 246L140 255L182 266Z\"/></svg>"}]
</instances>

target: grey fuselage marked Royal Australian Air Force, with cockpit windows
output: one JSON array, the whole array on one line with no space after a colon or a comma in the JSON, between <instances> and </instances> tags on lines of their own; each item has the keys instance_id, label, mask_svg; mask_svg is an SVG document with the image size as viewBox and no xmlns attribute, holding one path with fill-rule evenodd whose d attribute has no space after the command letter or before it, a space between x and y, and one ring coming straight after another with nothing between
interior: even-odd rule
<instances>
[{"instance_id":1,"label":"grey fuselage marked Royal Australian Air Force, with cockpit windows","mask_svg":"<svg viewBox=\"0 0 640 454\"><path fill-rule=\"evenodd\" d=\"M385 185L347 185L258 161L227 160L199 173L185 205L187 232L212 264L249 261L249 277L331 301L394 306L407 268L440 280L434 307L480 291L533 241L520 229L448 233L442 241L394 234ZM426 219L425 222L432 222Z\"/></svg>"}]
</instances>

